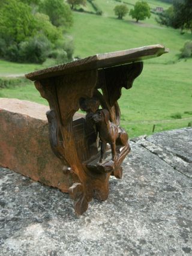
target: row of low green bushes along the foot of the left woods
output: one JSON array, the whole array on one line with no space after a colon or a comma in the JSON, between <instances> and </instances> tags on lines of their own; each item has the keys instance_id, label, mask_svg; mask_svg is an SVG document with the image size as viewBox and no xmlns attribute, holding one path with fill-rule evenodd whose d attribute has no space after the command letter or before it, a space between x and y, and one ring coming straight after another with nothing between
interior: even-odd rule
<instances>
[{"instance_id":1,"label":"row of low green bushes along the foot of the left woods","mask_svg":"<svg viewBox=\"0 0 192 256\"><path fill-rule=\"evenodd\" d=\"M46 35L40 34L19 44L13 43L5 48L4 46L4 40L0 40L0 56L8 61L41 64L51 58L55 59L54 64L59 64L73 59L74 46L71 38L60 38L52 44Z\"/></svg>"}]
</instances>

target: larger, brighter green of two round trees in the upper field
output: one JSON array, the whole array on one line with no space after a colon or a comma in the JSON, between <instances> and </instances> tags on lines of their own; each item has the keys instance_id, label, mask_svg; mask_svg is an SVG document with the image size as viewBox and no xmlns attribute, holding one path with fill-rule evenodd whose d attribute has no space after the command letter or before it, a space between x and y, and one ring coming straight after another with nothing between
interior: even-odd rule
<instances>
[{"instance_id":1,"label":"larger, brighter green of two round trees in the upper field","mask_svg":"<svg viewBox=\"0 0 192 256\"><path fill-rule=\"evenodd\" d=\"M151 17L150 7L147 2L145 1L138 1L134 5L134 9L130 10L130 15L133 19L136 19L138 22L139 20L145 20L146 17Z\"/></svg>"}]
</instances>

